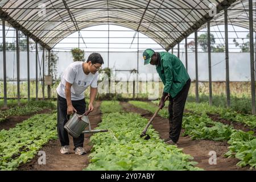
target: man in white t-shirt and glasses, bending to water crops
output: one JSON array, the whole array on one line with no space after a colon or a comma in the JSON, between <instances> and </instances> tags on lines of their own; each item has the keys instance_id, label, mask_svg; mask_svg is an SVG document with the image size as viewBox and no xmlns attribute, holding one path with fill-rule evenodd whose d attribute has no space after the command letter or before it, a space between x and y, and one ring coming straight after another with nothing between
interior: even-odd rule
<instances>
[{"instance_id":1,"label":"man in white t-shirt and glasses, bending to water crops","mask_svg":"<svg viewBox=\"0 0 256 182\"><path fill-rule=\"evenodd\" d=\"M99 53L92 53L86 62L76 61L68 66L57 86L57 131L61 143L61 154L69 154L68 133L64 129L69 115L85 113L84 91L90 86L88 110L93 111L93 102L97 95L98 71L104 61ZM68 118L67 118L68 115ZM75 154L86 154L84 134L73 138Z\"/></svg>"}]
</instances>

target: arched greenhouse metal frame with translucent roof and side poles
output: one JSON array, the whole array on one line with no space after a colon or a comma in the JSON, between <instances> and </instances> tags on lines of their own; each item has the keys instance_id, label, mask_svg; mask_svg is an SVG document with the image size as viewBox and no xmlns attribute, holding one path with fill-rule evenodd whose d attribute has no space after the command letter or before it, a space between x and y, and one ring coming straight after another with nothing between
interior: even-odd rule
<instances>
[{"instance_id":1,"label":"arched greenhouse metal frame with translucent roof and side poles","mask_svg":"<svg viewBox=\"0 0 256 182\"><path fill-rule=\"evenodd\" d=\"M46 8L47 16L39 16L42 9L41 3ZM0 1L0 18L2 19L3 32L3 73L4 73L4 100L7 105L6 91L6 43L5 27L14 27L16 30L16 65L17 86L19 96L19 41L18 31L23 32L36 43L36 99L38 98L38 44L45 49L48 55L52 48L61 40L83 28L100 24L118 25L142 32L152 38L166 51L177 45L179 57L179 43L185 39L185 62L187 65L187 37L195 33L195 67L196 67L196 101L199 102L199 80L197 69L197 31L207 25L208 30L208 64L209 64L209 104L212 105L212 73L210 51L210 27L225 25L225 61L226 61L226 102L230 106L229 88L229 42L228 24L247 28L250 31L250 69L251 69L251 113L255 114L255 61L254 61L254 32L256 15L256 0L139 0L139 1ZM209 5L216 5L212 6ZM210 11L216 11L211 15ZM27 51L29 52L27 41ZM49 57L49 56L48 56ZM30 72L29 53L27 54L28 66L28 99L30 98ZM44 79L43 56L43 79ZM49 61L48 61L49 63ZM186 67L187 68L187 67ZM43 81L44 87L44 81ZM49 97L48 86L48 97ZM44 90L44 89L43 89ZM44 93L43 93L44 97Z\"/></svg>"}]
</instances>

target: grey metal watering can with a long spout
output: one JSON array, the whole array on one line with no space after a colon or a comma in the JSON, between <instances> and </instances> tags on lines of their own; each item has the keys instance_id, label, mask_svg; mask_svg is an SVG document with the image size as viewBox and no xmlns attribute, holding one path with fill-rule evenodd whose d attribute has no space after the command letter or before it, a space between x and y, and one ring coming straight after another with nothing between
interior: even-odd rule
<instances>
[{"instance_id":1,"label":"grey metal watering can with a long spout","mask_svg":"<svg viewBox=\"0 0 256 182\"><path fill-rule=\"evenodd\" d=\"M68 120L65 124L64 129L68 131L68 133L74 137L78 138L82 133L98 133L98 132L106 132L108 130L91 130L90 121L88 118L88 114L91 111L88 110L84 114L79 115L77 113L73 114L72 118ZM89 125L89 131L84 131L84 129Z\"/></svg>"}]
</instances>

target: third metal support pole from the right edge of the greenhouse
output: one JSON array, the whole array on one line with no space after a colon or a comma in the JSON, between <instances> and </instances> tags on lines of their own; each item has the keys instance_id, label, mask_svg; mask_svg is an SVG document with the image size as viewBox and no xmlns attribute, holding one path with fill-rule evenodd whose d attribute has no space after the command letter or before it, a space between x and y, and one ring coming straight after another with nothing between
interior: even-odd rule
<instances>
[{"instance_id":1,"label":"third metal support pole from the right edge of the greenhouse","mask_svg":"<svg viewBox=\"0 0 256 182\"><path fill-rule=\"evenodd\" d=\"M208 30L208 67L209 67L209 104L212 106L212 58L210 48L210 22L207 22Z\"/></svg>"}]
</instances>

